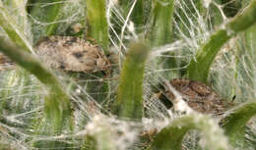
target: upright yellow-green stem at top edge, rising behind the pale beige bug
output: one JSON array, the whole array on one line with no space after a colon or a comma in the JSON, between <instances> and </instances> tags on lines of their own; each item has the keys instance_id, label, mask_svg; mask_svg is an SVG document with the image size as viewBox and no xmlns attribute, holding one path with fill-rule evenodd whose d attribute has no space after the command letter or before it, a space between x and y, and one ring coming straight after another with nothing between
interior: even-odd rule
<instances>
[{"instance_id":1,"label":"upright yellow-green stem at top edge, rising behind the pale beige bug","mask_svg":"<svg viewBox=\"0 0 256 150\"><path fill-rule=\"evenodd\" d=\"M108 54L108 25L105 15L105 0L87 0L88 36L96 40Z\"/></svg>"}]
</instances>

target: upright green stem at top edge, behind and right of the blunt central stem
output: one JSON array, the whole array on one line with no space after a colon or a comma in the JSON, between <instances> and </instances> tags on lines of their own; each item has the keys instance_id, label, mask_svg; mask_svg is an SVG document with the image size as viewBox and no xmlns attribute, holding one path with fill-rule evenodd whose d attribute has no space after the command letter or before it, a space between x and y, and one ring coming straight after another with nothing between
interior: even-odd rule
<instances>
[{"instance_id":1,"label":"upright green stem at top edge, behind and right of the blunt central stem","mask_svg":"<svg viewBox=\"0 0 256 150\"><path fill-rule=\"evenodd\" d=\"M149 31L149 37L152 46L161 46L170 43L172 40L172 18L173 6L175 0L153 0L152 23ZM168 53L168 55L175 55ZM160 58L159 64L163 68L178 68L175 58ZM174 73L174 74L172 74ZM176 71L171 72L170 76L178 75Z\"/></svg>"}]
</instances>

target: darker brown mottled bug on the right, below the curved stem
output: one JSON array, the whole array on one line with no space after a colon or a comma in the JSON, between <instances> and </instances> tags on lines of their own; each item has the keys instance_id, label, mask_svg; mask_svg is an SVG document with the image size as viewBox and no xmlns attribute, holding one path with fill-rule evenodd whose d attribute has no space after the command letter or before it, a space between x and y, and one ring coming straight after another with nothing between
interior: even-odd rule
<instances>
[{"instance_id":1,"label":"darker brown mottled bug on the right, below the curved stem","mask_svg":"<svg viewBox=\"0 0 256 150\"><path fill-rule=\"evenodd\" d=\"M192 109L200 113L219 116L232 106L232 103L222 99L211 86L205 83L185 78L174 78L169 83ZM169 89L165 89L163 94L169 99L174 99Z\"/></svg>"}]
</instances>

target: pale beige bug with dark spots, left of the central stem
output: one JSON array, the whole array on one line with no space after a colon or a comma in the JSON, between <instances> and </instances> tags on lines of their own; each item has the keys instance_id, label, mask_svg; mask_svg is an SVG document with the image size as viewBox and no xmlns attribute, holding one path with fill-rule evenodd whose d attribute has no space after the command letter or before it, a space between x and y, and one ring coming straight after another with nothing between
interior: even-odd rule
<instances>
[{"instance_id":1,"label":"pale beige bug with dark spots, left of the central stem","mask_svg":"<svg viewBox=\"0 0 256 150\"><path fill-rule=\"evenodd\" d=\"M36 44L35 50L42 62L53 69L95 73L110 67L99 46L78 37L46 37Z\"/></svg>"}]
</instances>

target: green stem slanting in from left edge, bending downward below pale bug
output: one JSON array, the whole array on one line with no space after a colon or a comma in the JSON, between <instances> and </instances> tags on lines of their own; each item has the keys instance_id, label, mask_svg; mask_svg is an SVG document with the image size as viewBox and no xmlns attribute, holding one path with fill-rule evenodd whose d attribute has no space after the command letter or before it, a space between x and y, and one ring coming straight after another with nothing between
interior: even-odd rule
<instances>
[{"instance_id":1,"label":"green stem slanting in from left edge, bending downward below pale bug","mask_svg":"<svg viewBox=\"0 0 256 150\"><path fill-rule=\"evenodd\" d=\"M69 97L61 88L58 79L31 54L22 51L21 48L15 47L3 39L0 40L0 51L32 75L35 75L47 87L48 95L45 98L44 109L46 116L53 124L51 129L54 132L58 132L64 121L71 118L72 115Z\"/></svg>"}]
</instances>

